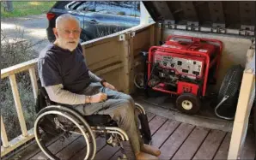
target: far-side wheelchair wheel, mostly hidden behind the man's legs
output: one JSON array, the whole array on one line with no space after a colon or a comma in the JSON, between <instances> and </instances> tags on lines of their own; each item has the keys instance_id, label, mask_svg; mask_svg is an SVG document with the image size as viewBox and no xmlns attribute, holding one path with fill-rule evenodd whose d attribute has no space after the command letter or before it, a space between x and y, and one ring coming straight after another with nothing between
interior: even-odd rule
<instances>
[{"instance_id":1,"label":"far-side wheelchair wheel, mostly hidden behind the man's legs","mask_svg":"<svg viewBox=\"0 0 256 160\"><path fill-rule=\"evenodd\" d=\"M152 137L151 137L151 131L149 128L149 121L147 114L145 110L143 109L143 106L140 104L135 104L136 111L137 111L137 117L139 119L139 130L142 135L142 138L144 140L145 144L150 144Z\"/></svg>"}]
</instances>

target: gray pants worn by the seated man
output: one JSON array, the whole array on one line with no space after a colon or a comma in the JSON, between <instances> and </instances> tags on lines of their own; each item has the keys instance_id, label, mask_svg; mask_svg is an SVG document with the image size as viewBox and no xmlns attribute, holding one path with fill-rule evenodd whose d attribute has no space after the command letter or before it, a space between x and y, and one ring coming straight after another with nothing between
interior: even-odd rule
<instances>
[{"instance_id":1,"label":"gray pants worn by the seated man","mask_svg":"<svg viewBox=\"0 0 256 160\"><path fill-rule=\"evenodd\" d=\"M105 88L101 86L101 83L91 83L82 94L91 96L99 92L107 94L105 102L75 105L75 109L85 116L92 114L111 116L118 126L127 133L134 153L138 153L140 145L143 145L143 140L139 136L138 119L135 116L133 99L125 93Z\"/></svg>"}]
</instances>

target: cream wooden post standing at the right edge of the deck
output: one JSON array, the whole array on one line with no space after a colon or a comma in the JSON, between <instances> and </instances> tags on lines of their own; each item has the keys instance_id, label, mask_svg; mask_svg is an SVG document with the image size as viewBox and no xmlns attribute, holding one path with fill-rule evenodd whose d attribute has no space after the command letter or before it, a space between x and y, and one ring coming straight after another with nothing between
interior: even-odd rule
<instances>
[{"instance_id":1,"label":"cream wooden post standing at the right edge of the deck","mask_svg":"<svg viewBox=\"0 0 256 160\"><path fill-rule=\"evenodd\" d=\"M247 63L251 61L252 51L247 51ZM255 61L255 59L254 59ZM246 68L241 81L241 91L235 112L235 121L229 145L228 159L240 159L241 150L247 137L248 119L255 98L255 73Z\"/></svg>"}]
</instances>

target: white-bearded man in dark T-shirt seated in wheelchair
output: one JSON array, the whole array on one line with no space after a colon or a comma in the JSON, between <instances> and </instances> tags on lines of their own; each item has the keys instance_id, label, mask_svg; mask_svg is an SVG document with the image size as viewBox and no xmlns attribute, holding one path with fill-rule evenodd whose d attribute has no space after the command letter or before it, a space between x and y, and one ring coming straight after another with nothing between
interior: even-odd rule
<instances>
[{"instance_id":1,"label":"white-bearded man in dark T-shirt seated in wheelchair","mask_svg":"<svg viewBox=\"0 0 256 160\"><path fill-rule=\"evenodd\" d=\"M70 105L82 115L109 115L128 134L136 159L158 159L161 151L143 144L137 128L135 105L131 96L90 72L79 44L79 21L61 15L53 28L56 40L42 50L38 67L42 86L49 98Z\"/></svg>"}]
</instances>

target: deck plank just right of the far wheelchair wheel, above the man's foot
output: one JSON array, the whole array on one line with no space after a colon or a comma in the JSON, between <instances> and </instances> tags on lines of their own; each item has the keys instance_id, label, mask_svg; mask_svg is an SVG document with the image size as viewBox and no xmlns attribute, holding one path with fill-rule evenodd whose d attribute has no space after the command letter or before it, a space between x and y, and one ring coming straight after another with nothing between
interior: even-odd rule
<instances>
[{"instance_id":1,"label":"deck plank just right of the far wheelchair wheel, above the man's foot","mask_svg":"<svg viewBox=\"0 0 256 160\"><path fill-rule=\"evenodd\" d=\"M152 145L160 147L163 142L174 133L174 130L179 127L179 121L168 120L162 125L161 128L152 136Z\"/></svg>"}]
</instances>

